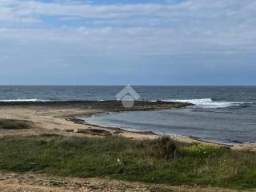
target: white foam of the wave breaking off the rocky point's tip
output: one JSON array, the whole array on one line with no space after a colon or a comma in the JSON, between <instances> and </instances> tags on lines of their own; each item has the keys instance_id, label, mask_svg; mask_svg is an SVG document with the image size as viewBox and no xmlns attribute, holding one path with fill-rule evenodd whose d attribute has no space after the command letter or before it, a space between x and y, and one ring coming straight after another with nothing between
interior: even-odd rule
<instances>
[{"instance_id":1,"label":"white foam of the wave breaking off the rocky point's tip","mask_svg":"<svg viewBox=\"0 0 256 192\"><path fill-rule=\"evenodd\" d=\"M226 108L230 106L241 106L245 102L214 102L211 98L199 98L199 99L172 99L166 100L166 102L190 102L195 105L195 107L200 108Z\"/></svg>"}]
</instances>

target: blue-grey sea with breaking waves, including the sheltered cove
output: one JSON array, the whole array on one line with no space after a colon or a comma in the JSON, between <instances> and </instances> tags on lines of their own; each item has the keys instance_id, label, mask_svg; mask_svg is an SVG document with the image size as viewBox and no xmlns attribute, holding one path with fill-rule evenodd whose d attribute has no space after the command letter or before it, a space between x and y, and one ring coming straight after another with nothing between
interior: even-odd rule
<instances>
[{"instance_id":1,"label":"blue-grey sea with breaking waves, including the sheltered cove","mask_svg":"<svg viewBox=\"0 0 256 192\"><path fill-rule=\"evenodd\" d=\"M114 100L124 86L0 86L0 102ZM191 102L173 110L80 117L100 126L182 135L209 142L256 142L256 86L132 86L139 100Z\"/></svg>"}]
</instances>

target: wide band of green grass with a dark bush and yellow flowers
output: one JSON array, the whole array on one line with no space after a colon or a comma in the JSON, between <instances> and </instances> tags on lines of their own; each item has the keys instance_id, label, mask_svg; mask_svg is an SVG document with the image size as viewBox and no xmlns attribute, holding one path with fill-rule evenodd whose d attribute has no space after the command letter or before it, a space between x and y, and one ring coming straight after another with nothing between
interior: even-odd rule
<instances>
[{"instance_id":1,"label":"wide band of green grass with a dark bush and yellow flowers","mask_svg":"<svg viewBox=\"0 0 256 192\"><path fill-rule=\"evenodd\" d=\"M171 185L256 187L256 154L170 138L77 138L41 135L0 139L0 170L115 178Z\"/></svg>"}]
</instances>

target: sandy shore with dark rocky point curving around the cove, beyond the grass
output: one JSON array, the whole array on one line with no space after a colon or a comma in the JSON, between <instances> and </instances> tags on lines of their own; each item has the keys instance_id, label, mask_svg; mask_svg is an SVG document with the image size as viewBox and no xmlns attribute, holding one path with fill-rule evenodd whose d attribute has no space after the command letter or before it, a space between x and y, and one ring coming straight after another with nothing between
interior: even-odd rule
<instances>
[{"instance_id":1,"label":"sandy shore with dark rocky point curving around the cove, beyond the grass","mask_svg":"<svg viewBox=\"0 0 256 192\"><path fill-rule=\"evenodd\" d=\"M186 102L146 102L136 101L133 108L124 108L120 101L58 101L58 102L0 102L0 118L25 119L39 125L36 130L19 132L0 131L0 135L9 134L65 134L78 135L75 132L89 135L102 135L98 133L106 130L107 134L118 135L126 138L144 139L158 138L153 131L130 131L121 128L96 126L78 120L78 116L101 114L106 112L122 112L135 110L167 110L178 109L193 104ZM68 121L67 121L68 120ZM74 123L75 122L75 123ZM94 132L96 129L96 132ZM29 133L30 132L30 133ZM105 133L105 134L106 134ZM79 134L81 135L81 134ZM200 138L177 136L173 137L182 142L205 142ZM220 144L218 142L208 142ZM230 146L230 145L229 145ZM253 143L234 143L238 149L255 150ZM246 146L246 147L245 147Z\"/></svg>"}]
</instances>

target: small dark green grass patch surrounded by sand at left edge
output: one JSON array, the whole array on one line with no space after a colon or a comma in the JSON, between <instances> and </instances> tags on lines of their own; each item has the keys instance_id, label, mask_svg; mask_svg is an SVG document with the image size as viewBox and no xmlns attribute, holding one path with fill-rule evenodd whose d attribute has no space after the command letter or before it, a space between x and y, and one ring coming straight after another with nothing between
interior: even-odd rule
<instances>
[{"instance_id":1,"label":"small dark green grass patch surrounded by sand at left edge","mask_svg":"<svg viewBox=\"0 0 256 192\"><path fill-rule=\"evenodd\" d=\"M23 130L30 129L32 123L24 120L0 118L0 129L4 130Z\"/></svg>"}]
</instances>

